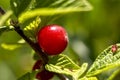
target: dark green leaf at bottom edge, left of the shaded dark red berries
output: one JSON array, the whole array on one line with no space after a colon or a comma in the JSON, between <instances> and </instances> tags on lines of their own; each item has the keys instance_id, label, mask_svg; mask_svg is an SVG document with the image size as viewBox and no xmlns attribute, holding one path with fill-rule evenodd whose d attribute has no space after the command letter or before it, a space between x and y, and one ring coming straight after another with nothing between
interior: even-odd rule
<instances>
[{"instance_id":1,"label":"dark green leaf at bottom edge, left of the shaded dark red berries","mask_svg":"<svg viewBox=\"0 0 120 80\"><path fill-rule=\"evenodd\" d=\"M36 74L37 74L37 71L28 72L17 80L35 80Z\"/></svg>"}]
</instances>

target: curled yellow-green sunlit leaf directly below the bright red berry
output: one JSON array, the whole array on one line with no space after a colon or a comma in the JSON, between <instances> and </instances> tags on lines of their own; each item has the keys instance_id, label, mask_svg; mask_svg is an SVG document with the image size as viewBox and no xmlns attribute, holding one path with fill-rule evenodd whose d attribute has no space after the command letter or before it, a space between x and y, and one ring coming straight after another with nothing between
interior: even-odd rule
<instances>
[{"instance_id":1,"label":"curled yellow-green sunlit leaf directly below the bright red berry","mask_svg":"<svg viewBox=\"0 0 120 80\"><path fill-rule=\"evenodd\" d=\"M52 57L45 68L52 72L70 75L73 79L78 80L87 69L87 63L79 67L68 56L60 54Z\"/></svg>"}]
</instances>

